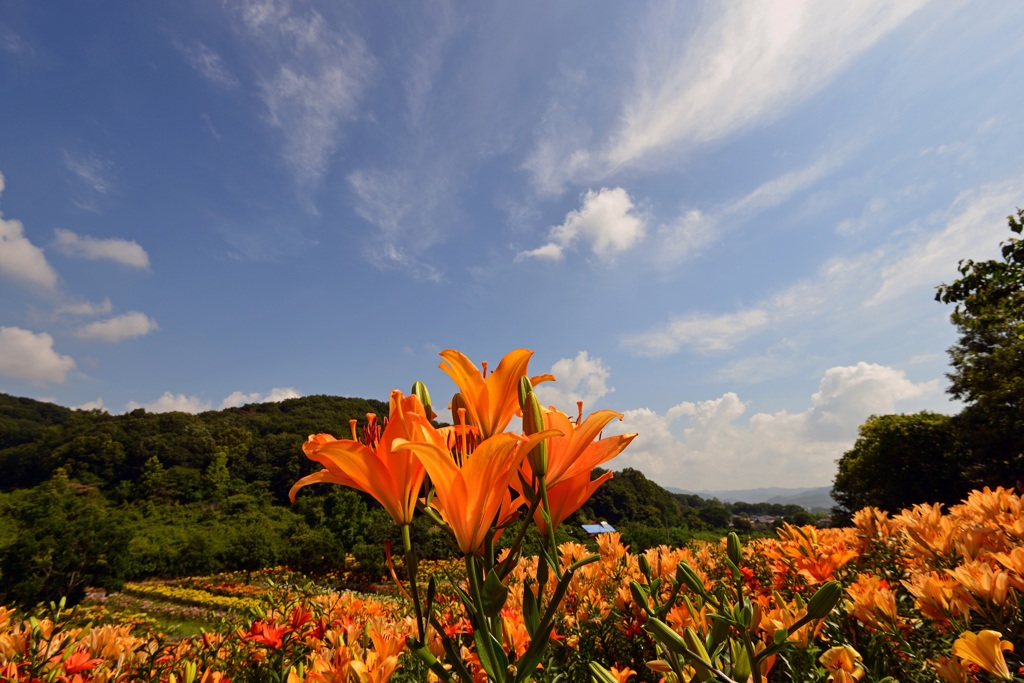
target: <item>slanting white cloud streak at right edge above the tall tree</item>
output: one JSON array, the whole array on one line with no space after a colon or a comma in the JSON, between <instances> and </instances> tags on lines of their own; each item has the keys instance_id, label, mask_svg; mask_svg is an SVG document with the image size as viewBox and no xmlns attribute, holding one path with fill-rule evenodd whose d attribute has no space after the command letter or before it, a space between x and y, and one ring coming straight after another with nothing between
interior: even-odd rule
<instances>
[{"instance_id":1,"label":"slanting white cloud streak at right edge above the tall tree","mask_svg":"<svg viewBox=\"0 0 1024 683\"><path fill-rule=\"evenodd\" d=\"M934 288L957 276L961 259L994 257L1006 238L1007 214L1020 202L1021 179L962 193L949 209L954 215L936 233L925 234L905 256L882 270L882 285L865 305L873 306L908 291Z\"/></svg>"}]
</instances>

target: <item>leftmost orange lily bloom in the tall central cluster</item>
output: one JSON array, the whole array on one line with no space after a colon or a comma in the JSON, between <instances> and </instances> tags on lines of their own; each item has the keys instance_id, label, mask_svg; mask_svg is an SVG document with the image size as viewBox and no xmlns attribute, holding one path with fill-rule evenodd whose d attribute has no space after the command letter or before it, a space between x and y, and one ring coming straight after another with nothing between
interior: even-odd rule
<instances>
[{"instance_id":1,"label":"leftmost orange lily bloom in the tall central cluster","mask_svg":"<svg viewBox=\"0 0 1024 683\"><path fill-rule=\"evenodd\" d=\"M416 500L426 470L408 451L396 452L394 443L426 441L444 446L444 437L430 424L423 403L415 395L391 392L391 418L375 447L353 439L335 439L314 434L302 445L306 457L326 469L302 477L288 493L292 502L299 488L310 483L339 483L373 496L399 526L413 520Z\"/></svg>"}]
</instances>

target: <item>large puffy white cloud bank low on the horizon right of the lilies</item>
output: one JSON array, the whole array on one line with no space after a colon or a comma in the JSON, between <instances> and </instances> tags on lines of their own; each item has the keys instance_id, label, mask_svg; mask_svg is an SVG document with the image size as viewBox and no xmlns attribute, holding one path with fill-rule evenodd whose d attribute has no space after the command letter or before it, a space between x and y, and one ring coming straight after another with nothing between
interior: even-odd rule
<instances>
[{"instance_id":1,"label":"large puffy white cloud bank low on the horizon right of the lilies","mask_svg":"<svg viewBox=\"0 0 1024 683\"><path fill-rule=\"evenodd\" d=\"M734 392L685 401L665 414L627 411L611 433L638 432L615 461L659 482L689 489L820 486L854 442L857 427L901 401L938 391L938 382L915 383L902 371L867 362L829 368L802 412L756 413Z\"/></svg>"}]
</instances>

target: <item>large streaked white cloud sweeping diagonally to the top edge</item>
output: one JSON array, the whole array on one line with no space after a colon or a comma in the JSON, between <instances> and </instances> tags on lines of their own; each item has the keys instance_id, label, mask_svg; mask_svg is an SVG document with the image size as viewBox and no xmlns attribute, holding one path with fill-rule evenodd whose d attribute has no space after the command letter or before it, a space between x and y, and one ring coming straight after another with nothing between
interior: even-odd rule
<instances>
[{"instance_id":1,"label":"large streaked white cloud sweeping diagonally to the top edge","mask_svg":"<svg viewBox=\"0 0 1024 683\"><path fill-rule=\"evenodd\" d=\"M587 126L563 115L571 123L542 131L526 167L542 189L557 191L777 120L926 1L725 3L699 13L652 4L632 31L632 83L613 127L565 135Z\"/></svg>"}]
</instances>

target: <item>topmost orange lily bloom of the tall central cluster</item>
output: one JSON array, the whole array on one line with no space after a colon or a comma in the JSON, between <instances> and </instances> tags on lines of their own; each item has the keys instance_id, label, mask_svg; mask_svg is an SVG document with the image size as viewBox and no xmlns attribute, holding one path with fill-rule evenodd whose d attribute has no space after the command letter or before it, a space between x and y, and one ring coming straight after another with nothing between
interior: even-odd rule
<instances>
[{"instance_id":1,"label":"topmost orange lily bloom of the tall central cluster","mask_svg":"<svg viewBox=\"0 0 1024 683\"><path fill-rule=\"evenodd\" d=\"M484 378L461 351L441 351L444 362L441 362L440 369L459 386L470 421L480 430L482 438L502 432L519 410L519 379L527 377L526 366L531 355L532 351L517 348L502 358L498 368ZM551 375L538 375L530 377L529 381L536 386L554 379Z\"/></svg>"}]
</instances>

